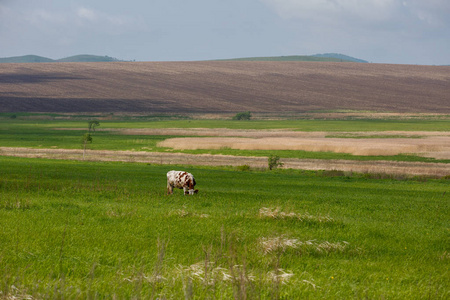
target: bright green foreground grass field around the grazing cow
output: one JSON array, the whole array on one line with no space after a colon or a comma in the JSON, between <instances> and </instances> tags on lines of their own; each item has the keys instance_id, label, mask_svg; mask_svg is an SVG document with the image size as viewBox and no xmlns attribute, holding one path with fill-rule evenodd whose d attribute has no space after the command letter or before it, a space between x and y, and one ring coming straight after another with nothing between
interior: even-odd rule
<instances>
[{"instance_id":1,"label":"bright green foreground grass field around the grazing cow","mask_svg":"<svg viewBox=\"0 0 450 300\"><path fill-rule=\"evenodd\" d=\"M448 179L0 166L0 299L450 297ZM181 168L198 195L165 194Z\"/></svg>"}]
</instances>

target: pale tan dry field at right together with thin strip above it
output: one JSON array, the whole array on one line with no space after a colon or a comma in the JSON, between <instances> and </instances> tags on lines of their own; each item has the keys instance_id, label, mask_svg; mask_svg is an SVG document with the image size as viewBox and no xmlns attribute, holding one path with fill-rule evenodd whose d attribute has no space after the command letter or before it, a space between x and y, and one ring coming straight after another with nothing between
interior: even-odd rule
<instances>
[{"instance_id":1,"label":"pale tan dry field at right together with thin strip above it","mask_svg":"<svg viewBox=\"0 0 450 300\"><path fill-rule=\"evenodd\" d=\"M144 130L140 132L142 133ZM175 150L223 148L239 150L303 150L353 155L416 154L437 159L450 159L450 133L448 132L326 133L229 129L164 129L159 132L160 134L208 136L172 138L158 144L160 147L168 147ZM153 131L152 134L157 133ZM349 138L332 136L349 136Z\"/></svg>"}]
</instances>

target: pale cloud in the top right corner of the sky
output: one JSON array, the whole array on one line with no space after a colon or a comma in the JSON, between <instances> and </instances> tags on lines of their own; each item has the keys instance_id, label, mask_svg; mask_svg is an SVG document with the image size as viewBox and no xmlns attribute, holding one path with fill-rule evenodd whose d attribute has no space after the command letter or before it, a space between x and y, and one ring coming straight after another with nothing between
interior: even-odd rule
<instances>
[{"instance_id":1,"label":"pale cloud in the top right corner of the sky","mask_svg":"<svg viewBox=\"0 0 450 300\"><path fill-rule=\"evenodd\" d=\"M374 29L448 26L448 0L261 0L283 19Z\"/></svg>"}]
</instances>

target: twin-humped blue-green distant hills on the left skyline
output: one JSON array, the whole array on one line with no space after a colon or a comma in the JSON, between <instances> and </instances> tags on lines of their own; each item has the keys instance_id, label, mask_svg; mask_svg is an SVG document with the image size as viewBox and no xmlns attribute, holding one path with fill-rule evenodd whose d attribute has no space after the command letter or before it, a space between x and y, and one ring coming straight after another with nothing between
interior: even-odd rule
<instances>
[{"instance_id":1,"label":"twin-humped blue-green distant hills on the left skyline","mask_svg":"<svg viewBox=\"0 0 450 300\"><path fill-rule=\"evenodd\" d=\"M37 55L24 55L0 58L0 63L40 63L40 62L110 62L121 61L114 57L98 56L98 55L75 55L61 59L51 59Z\"/></svg>"}]
</instances>

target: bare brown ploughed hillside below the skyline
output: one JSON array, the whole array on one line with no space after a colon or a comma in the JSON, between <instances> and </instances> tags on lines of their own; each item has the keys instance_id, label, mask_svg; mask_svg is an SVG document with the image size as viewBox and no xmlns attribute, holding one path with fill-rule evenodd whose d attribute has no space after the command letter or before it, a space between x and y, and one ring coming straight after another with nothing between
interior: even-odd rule
<instances>
[{"instance_id":1,"label":"bare brown ploughed hillside below the skyline","mask_svg":"<svg viewBox=\"0 0 450 300\"><path fill-rule=\"evenodd\" d=\"M450 67L333 62L5 64L0 112L450 113Z\"/></svg>"}]
</instances>

